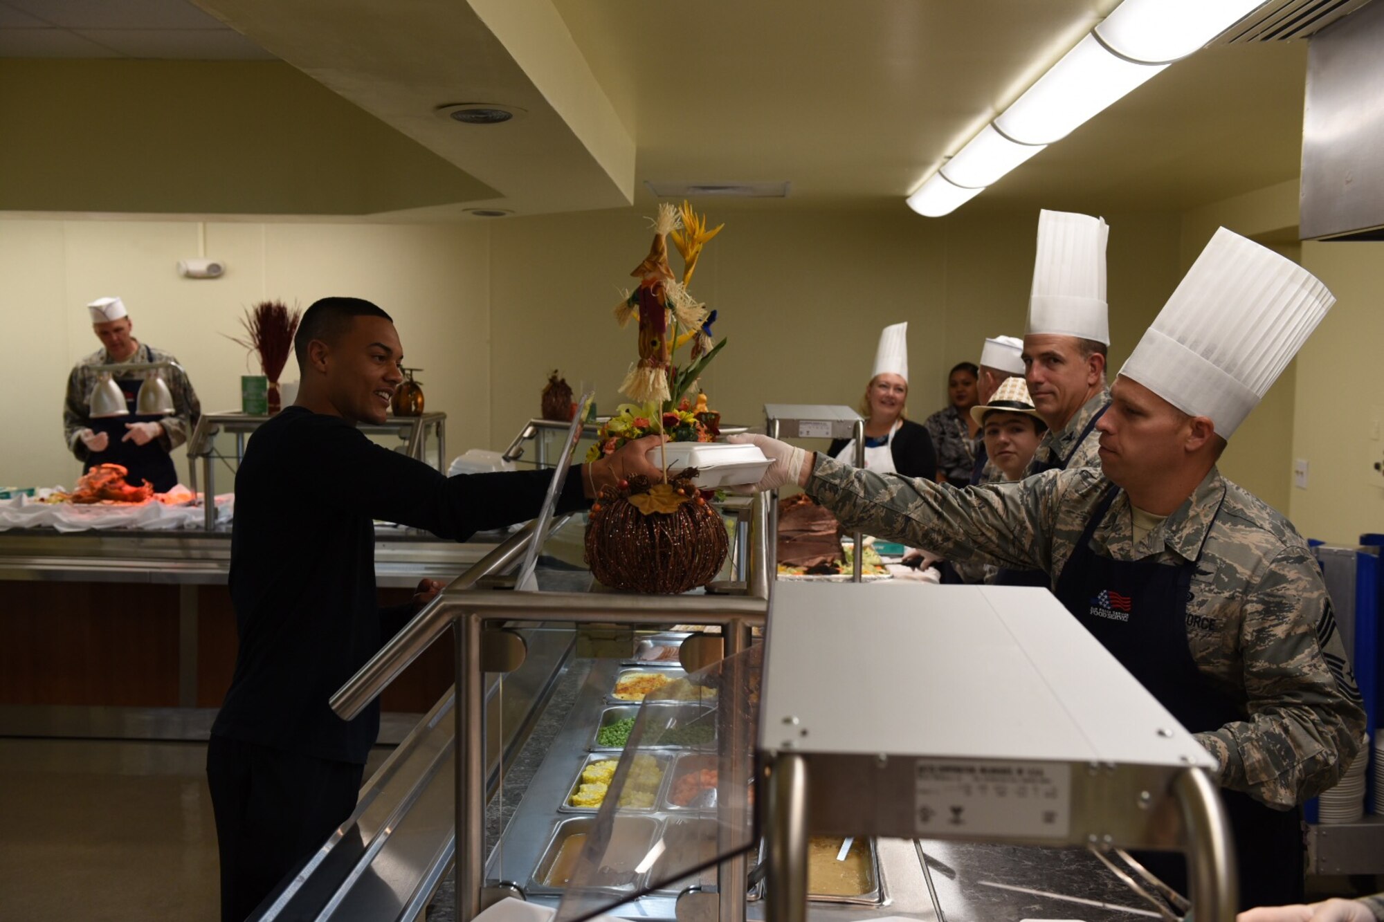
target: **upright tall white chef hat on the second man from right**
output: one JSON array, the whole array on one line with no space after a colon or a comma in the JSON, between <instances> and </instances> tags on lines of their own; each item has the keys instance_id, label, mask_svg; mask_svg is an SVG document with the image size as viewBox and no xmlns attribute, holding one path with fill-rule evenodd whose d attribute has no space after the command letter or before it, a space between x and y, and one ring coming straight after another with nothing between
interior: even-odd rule
<instances>
[{"instance_id":1,"label":"upright tall white chef hat on the second man from right","mask_svg":"<svg viewBox=\"0 0 1384 922\"><path fill-rule=\"evenodd\" d=\"M1038 256L1024 334L1059 334L1110 345L1106 238L1110 226L1071 212L1038 212Z\"/></svg>"}]
</instances>

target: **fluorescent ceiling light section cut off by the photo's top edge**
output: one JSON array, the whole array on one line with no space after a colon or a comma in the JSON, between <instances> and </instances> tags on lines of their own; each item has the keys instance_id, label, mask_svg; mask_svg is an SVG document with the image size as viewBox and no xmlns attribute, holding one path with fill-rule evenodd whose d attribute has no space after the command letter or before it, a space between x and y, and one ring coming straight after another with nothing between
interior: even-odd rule
<instances>
[{"instance_id":1,"label":"fluorescent ceiling light section cut off by the photo's top edge","mask_svg":"<svg viewBox=\"0 0 1384 922\"><path fill-rule=\"evenodd\" d=\"M1176 61L1262 4L1264 0L1124 0L1096 26L1096 35L1135 61Z\"/></svg>"}]
</instances>

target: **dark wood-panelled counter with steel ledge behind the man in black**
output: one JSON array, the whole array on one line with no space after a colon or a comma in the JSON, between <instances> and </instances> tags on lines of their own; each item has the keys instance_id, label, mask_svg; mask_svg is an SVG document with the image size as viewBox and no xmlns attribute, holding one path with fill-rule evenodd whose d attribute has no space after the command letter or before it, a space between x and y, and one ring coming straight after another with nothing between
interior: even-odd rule
<instances>
[{"instance_id":1,"label":"dark wood-panelled counter with steel ledge behind the man in black","mask_svg":"<svg viewBox=\"0 0 1384 922\"><path fill-rule=\"evenodd\" d=\"M407 601L424 577L450 581L505 539L455 543L399 527L375 536L381 605ZM0 734L205 736L210 713L165 709L215 709L230 685L230 537L228 529L0 532ZM451 651L435 651L385 710L424 713L450 683ZM145 713L97 718L51 707Z\"/></svg>"}]
</instances>

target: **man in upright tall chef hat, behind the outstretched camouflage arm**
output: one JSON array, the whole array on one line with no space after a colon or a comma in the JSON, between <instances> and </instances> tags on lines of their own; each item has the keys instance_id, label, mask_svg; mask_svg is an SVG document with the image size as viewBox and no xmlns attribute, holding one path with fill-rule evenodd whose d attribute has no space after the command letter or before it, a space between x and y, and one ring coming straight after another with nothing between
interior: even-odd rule
<instances>
[{"instance_id":1,"label":"man in upright tall chef hat, behind the outstretched camouflage arm","mask_svg":"<svg viewBox=\"0 0 1384 922\"><path fill-rule=\"evenodd\" d=\"M1028 393L1048 424L1028 473L1098 467L1096 419L1110 406L1106 239L1099 217L1038 213L1023 360Z\"/></svg>"}]
</instances>

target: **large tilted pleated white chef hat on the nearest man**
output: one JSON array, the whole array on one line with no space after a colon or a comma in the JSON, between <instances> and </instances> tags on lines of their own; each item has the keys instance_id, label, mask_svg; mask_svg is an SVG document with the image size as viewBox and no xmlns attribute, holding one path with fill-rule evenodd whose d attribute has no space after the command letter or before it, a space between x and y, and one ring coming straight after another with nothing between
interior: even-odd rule
<instances>
[{"instance_id":1,"label":"large tilted pleated white chef hat on the nearest man","mask_svg":"<svg viewBox=\"0 0 1384 922\"><path fill-rule=\"evenodd\" d=\"M1312 273L1222 227L1120 374L1229 439L1334 303Z\"/></svg>"}]
</instances>

